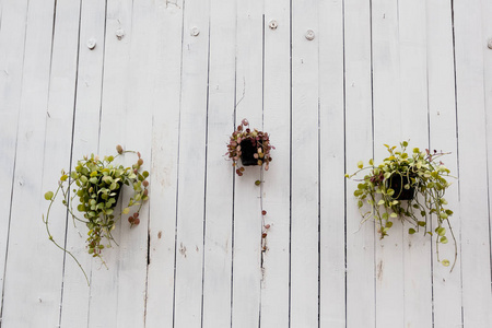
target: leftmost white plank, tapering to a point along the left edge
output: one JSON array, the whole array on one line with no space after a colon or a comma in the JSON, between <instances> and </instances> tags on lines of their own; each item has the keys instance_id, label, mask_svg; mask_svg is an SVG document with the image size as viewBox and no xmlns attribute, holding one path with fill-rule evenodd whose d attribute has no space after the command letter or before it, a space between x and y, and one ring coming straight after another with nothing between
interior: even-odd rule
<instances>
[{"instance_id":1,"label":"leftmost white plank, tapering to a point along the left edge","mask_svg":"<svg viewBox=\"0 0 492 328\"><path fill-rule=\"evenodd\" d=\"M0 22L0 207L7 215L0 216L0 295L3 295L7 250L11 221L13 175L17 143L19 113L24 67L27 1L1 4ZM0 317L3 297L0 297Z\"/></svg>"}]
</instances>

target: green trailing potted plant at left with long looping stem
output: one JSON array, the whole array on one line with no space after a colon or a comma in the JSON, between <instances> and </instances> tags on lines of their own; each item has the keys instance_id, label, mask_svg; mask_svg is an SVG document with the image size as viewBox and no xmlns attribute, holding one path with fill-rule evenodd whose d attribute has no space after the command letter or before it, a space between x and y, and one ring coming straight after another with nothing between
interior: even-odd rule
<instances>
[{"instance_id":1,"label":"green trailing potted plant at left with long looping stem","mask_svg":"<svg viewBox=\"0 0 492 328\"><path fill-rule=\"evenodd\" d=\"M105 263L102 258L102 251L104 248L110 247L112 242L114 242L112 231L115 229L116 222L121 218L121 214L128 214L130 208L136 207L137 210L128 221L130 222L130 227L138 225L140 223L139 211L142 202L149 199L149 181L147 180L149 172L141 172L143 160L140 157L140 153L124 151L121 145L117 145L116 150L118 154L104 156L103 160L94 154L79 160L73 171L61 171L61 177L55 192L47 191L45 194L45 199L49 201L49 207L46 216L43 215L43 221L46 225L48 237L58 248L69 254L75 260L82 269L87 283L87 276L77 258L54 239L49 231L49 212L57 196L61 192L61 202L72 216L73 224L75 225L77 221L82 222L89 229L89 237L86 239L89 254L93 257L98 257ZM131 167L114 164L114 161L125 153L133 153L138 156L137 163ZM125 185L132 188L133 195L121 212L117 213L115 208L121 188ZM79 216L73 209L75 198L79 201L77 211L82 216ZM107 242L106 245L105 242Z\"/></svg>"}]
</instances>

